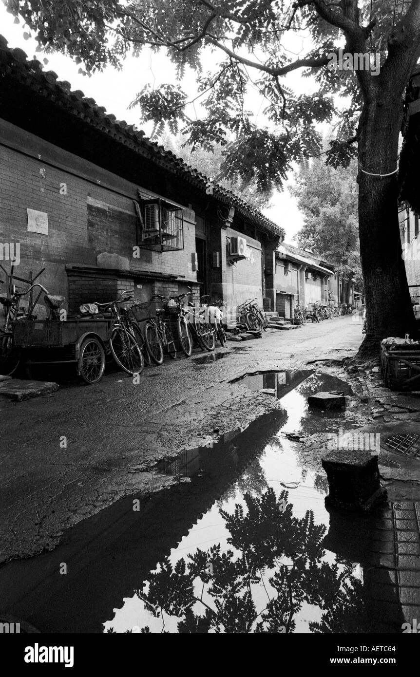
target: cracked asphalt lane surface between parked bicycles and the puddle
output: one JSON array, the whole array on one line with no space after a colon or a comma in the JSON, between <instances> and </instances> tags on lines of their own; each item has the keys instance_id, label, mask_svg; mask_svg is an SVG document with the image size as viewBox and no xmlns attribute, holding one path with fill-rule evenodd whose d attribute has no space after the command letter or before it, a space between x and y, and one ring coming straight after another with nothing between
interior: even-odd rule
<instances>
[{"instance_id":1,"label":"cracked asphalt lane surface between parked bicycles and the puddle","mask_svg":"<svg viewBox=\"0 0 420 677\"><path fill-rule=\"evenodd\" d=\"M396 406L377 374L343 374L341 360L354 355L361 340L353 316L271 329L262 339L218 347L219 359L201 351L165 359L144 370L140 385L112 371L98 385L64 382L51 395L1 401L0 563L53 549L65 529L122 496L161 489L171 480L151 472L157 461L278 408L272 397L232 383L243 374L329 366L352 383L350 412L359 426L390 424L404 414L419 420L420 400L407 395L406 406ZM200 364L205 355L210 362ZM60 383L59 372L55 378ZM306 451L316 445L315 435ZM418 491L417 480L414 486Z\"/></svg>"}]
</instances>

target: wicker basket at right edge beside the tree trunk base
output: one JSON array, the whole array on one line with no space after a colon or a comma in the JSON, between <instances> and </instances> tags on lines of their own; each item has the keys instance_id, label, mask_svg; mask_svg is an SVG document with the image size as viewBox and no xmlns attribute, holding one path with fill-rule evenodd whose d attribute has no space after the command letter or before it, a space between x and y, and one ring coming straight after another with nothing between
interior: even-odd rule
<instances>
[{"instance_id":1,"label":"wicker basket at right edge beside the tree trunk base","mask_svg":"<svg viewBox=\"0 0 420 677\"><path fill-rule=\"evenodd\" d=\"M391 390L420 390L420 347L381 345L381 374Z\"/></svg>"}]
</instances>

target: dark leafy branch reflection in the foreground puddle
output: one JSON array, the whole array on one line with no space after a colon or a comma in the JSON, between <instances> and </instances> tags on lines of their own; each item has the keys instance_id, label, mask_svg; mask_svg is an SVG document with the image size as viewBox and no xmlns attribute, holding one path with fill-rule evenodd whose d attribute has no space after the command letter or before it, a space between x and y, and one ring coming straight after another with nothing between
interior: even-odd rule
<instances>
[{"instance_id":1,"label":"dark leafy branch reflection in the foreground puddle","mask_svg":"<svg viewBox=\"0 0 420 677\"><path fill-rule=\"evenodd\" d=\"M272 488L244 500L233 512L219 510L229 549L197 548L175 564L167 557L150 573L135 591L143 619L159 619L161 632L287 634L305 609L316 619L310 632L368 631L362 583L352 564L327 561L327 529L312 510L293 517L288 492L276 496ZM126 632L150 632L150 625Z\"/></svg>"}]
</instances>

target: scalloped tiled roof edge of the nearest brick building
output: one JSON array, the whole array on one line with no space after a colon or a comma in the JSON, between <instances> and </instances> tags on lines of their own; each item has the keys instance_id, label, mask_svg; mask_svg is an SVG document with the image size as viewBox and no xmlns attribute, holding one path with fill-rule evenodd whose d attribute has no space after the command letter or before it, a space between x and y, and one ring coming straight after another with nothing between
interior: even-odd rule
<instances>
[{"instance_id":1,"label":"scalloped tiled roof edge of the nearest brick building","mask_svg":"<svg viewBox=\"0 0 420 677\"><path fill-rule=\"evenodd\" d=\"M56 106L66 109L67 112L82 118L102 133L111 135L125 146L147 156L156 165L180 175L189 183L194 184L196 188L204 192L207 189L210 181L198 169L187 165L170 150L165 150L163 146L150 141L144 132L135 129L134 125L127 125L125 121L117 121L114 115L107 113L102 106L98 106L95 100L85 97L83 91L72 91L70 83L59 81L54 71L44 72L39 60L28 60L22 49L11 49L7 45L7 40L1 35L0 73L8 74L15 81L43 95ZM233 205L241 216L261 230L274 235L284 235L284 230L279 225L217 183L213 184L213 199Z\"/></svg>"}]
</instances>

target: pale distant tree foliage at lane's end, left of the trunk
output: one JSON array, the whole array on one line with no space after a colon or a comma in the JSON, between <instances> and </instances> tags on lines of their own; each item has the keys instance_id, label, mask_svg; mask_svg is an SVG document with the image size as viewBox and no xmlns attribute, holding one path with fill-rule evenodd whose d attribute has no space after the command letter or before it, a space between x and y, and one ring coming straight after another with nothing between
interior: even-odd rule
<instances>
[{"instance_id":1,"label":"pale distant tree foliage at lane's end, left of the trunk","mask_svg":"<svg viewBox=\"0 0 420 677\"><path fill-rule=\"evenodd\" d=\"M318 257L335 263L342 278L362 280L358 236L357 167L331 167L321 158L301 165L289 190L297 198L303 227L297 243Z\"/></svg>"}]
</instances>

